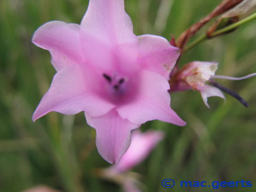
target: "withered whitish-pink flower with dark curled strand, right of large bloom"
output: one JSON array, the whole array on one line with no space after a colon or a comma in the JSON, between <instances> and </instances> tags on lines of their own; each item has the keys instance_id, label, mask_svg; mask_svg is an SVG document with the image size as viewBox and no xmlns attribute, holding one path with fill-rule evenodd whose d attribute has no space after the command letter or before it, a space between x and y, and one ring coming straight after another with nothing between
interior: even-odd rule
<instances>
[{"instance_id":1,"label":"withered whitish-pink flower with dark curled strand, right of large bloom","mask_svg":"<svg viewBox=\"0 0 256 192\"><path fill-rule=\"evenodd\" d=\"M172 79L170 80L171 85L173 85L172 91L184 91L189 89L197 90L201 92L201 96L205 105L210 108L207 103L207 98L217 96L225 99L224 94L221 92L222 90L236 97L240 102L247 106L247 103L238 94L228 90L227 88L224 88L219 83L211 82L211 84L214 84L216 87L208 86L205 83L210 81L211 78L242 80L256 76L256 73L237 78L215 75L217 69L218 63L216 62L193 61L187 63L181 70L173 74Z\"/></svg>"}]
</instances>

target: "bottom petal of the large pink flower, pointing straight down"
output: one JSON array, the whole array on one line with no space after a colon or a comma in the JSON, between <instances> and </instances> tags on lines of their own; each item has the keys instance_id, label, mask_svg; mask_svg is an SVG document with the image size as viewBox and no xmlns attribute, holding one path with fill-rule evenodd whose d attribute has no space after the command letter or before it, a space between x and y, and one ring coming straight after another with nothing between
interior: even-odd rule
<instances>
[{"instance_id":1,"label":"bottom petal of the large pink flower, pointing straight down","mask_svg":"<svg viewBox=\"0 0 256 192\"><path fill-rule=\"evenodd\" d=\"M131 130L140 126L122 119L115 110L101 117L91 117L86 113L86 119L96 129L99 154L110 163L118 163L131 143Z\"/></svg>"}]
</instances>

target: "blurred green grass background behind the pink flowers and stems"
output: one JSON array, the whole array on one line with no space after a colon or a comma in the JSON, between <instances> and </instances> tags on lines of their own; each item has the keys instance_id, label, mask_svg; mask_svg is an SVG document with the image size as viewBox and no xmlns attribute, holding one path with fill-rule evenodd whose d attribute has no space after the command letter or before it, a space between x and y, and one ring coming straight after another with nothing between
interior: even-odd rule
<instances>
[{"instance_id":1,"label":"blurred green grass background behind the pink flowers and stems","mask_svg":"<svg viewBox=\"0 0 256 192\"><path fill-rule=\"evenodd\" d=\"M125 9L136 35L169 39L171 33L177 38L220 2L129 0ZM0 191L22 191L38 184L67 192L122 191L95 176L95 168L109 164L97 153L95 131L82 113L52 112L31 120L55 74L49 52L34 46L32 35L50 20L79 24L87 6L86 0L0 1ZM220 63L217 74L229 76L256 72L255 31L255 22L250 22L229 35L205 41L184 54L180 64L216 61ZM161 186L164 178L177 182L244 179L253 186L215 190L256 190L256 78L219 82L245 98L249 108L226 95L225 103L210 98L209 110L196 91L173 93L172 108L187 125L152 121L141 127L165 132L150 157L133 169L142 175L143 191L212 191L208 187L166 189Z\"/></svg>"}]
</instances>

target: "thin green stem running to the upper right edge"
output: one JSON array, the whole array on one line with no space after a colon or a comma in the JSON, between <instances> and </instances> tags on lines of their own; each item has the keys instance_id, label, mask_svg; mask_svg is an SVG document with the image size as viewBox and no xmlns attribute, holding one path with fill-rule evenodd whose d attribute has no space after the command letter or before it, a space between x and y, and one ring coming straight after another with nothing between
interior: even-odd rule
<instances>
[{"instance_id":1,"label":"thin green stem running to the upper right edge","mask_svg":"<svg viewBox=\"0 0 256 192\"><path fill-rule=\"evenodd\" d=\"M183 52L186 52L186 51L190 50L191 48L195 47L197 44L199 44L200 42L204 41L207 38L215 37L217 35L220 35L220 34L223 34L225 32L228 32L228 31L230 31L232 29L235 29L235 28L237 28L237 27L239 27L239 26L241 26L243 24L246 24L246 23L250 22L251 20L253 20L255 18L256 18L256 13L253 13L250 16L246 17L243 20L240 20L237 23L234 23L234 24L229 25L229 26L227 26L227 27L225 27L223 29L220 29L218 31L213 32L210 37L207 37L206 34L203 34L203 35L199 36L198 38L196 38L194 41L192 41L190 44L188 44L184 48Z\"/></svg>"}]
</instances>

